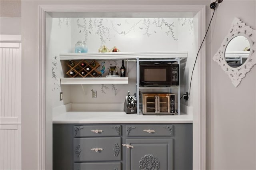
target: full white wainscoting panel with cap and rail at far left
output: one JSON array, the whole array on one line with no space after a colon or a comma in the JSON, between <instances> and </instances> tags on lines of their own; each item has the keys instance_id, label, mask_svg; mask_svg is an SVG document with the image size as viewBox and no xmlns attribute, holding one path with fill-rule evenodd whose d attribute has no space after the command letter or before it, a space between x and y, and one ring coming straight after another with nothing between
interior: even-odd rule
<instances>
[{"instance_id":1,"label":"full white wainscoting panel with cap and rail at far left","mask_svg":"<svg viewBox=\"0 0 256 170\"><path fill-rule=\"evenodd\" d=\"M0 170L21 170L21 36L0 35Z\"/></svg>"}]
</instances>

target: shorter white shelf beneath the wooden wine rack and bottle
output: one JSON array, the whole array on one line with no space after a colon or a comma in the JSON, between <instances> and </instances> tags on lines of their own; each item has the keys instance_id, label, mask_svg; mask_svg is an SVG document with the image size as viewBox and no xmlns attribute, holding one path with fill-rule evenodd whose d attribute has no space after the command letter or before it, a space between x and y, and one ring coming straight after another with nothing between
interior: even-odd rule
<instances>
[{"instance_id":1,"label":"shorter white shelf beneath the wooden wine rack and bottle","mask_svg":"<svg viewBox=\"0 0 256 170\"><path fill-rule=\"evenodd\" d=\"M64 77L60 78L61 85L80 84L128 84L128 77Z\"/></svg>"}]
</instances>

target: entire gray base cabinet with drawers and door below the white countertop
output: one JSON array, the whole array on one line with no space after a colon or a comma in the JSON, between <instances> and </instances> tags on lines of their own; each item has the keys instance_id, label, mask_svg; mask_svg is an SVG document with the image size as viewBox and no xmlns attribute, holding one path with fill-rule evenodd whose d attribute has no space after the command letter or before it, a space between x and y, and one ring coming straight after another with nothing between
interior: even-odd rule
<instances>
[{"instance_id":1,"label":"entire gray base cabinet with drawers and door below the white countertop","mask_svg":"<svg viewBox=\"0 0 256 170\"><path fill-rule=\"evenodd\" d=\"M192 170L192 124L54 124L53 170Z\"/></svg>"}]
</instances>

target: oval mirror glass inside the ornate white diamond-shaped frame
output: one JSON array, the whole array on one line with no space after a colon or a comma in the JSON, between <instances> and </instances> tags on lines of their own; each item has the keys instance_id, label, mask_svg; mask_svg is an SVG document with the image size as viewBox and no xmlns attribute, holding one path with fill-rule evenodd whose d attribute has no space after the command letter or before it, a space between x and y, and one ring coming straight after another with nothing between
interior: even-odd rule
<instances>
[{"instance_id":1,"label":"oval mirror glass inside the ornate white diamond-shaped frame","mask_svg":"<svg viewBox=\"0 0 256 170\"><path fill-rule=\"evenodd\" d=\"M230 67L240 67L250 54L250 42L245 36L236 36L228 43L225 59Z\"/></svg>"}]
</instances>

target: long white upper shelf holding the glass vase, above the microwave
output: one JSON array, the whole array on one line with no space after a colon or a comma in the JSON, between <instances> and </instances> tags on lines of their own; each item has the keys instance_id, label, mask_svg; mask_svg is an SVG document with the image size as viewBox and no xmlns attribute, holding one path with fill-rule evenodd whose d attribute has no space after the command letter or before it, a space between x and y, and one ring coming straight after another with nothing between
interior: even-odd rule
<instances>
[{"instance_id":1,"label":"long white upper shelf holding the glass vase, above the microwave","mask_svg":"<svg viewBox=\"0 0 256 170\"><path fill-rule=\"evenodd\" d=\"M116 52L116 53L62 53L60 60L70 59L163 59L186 58L188 52Z\"/></svg>"}]
</instances>

